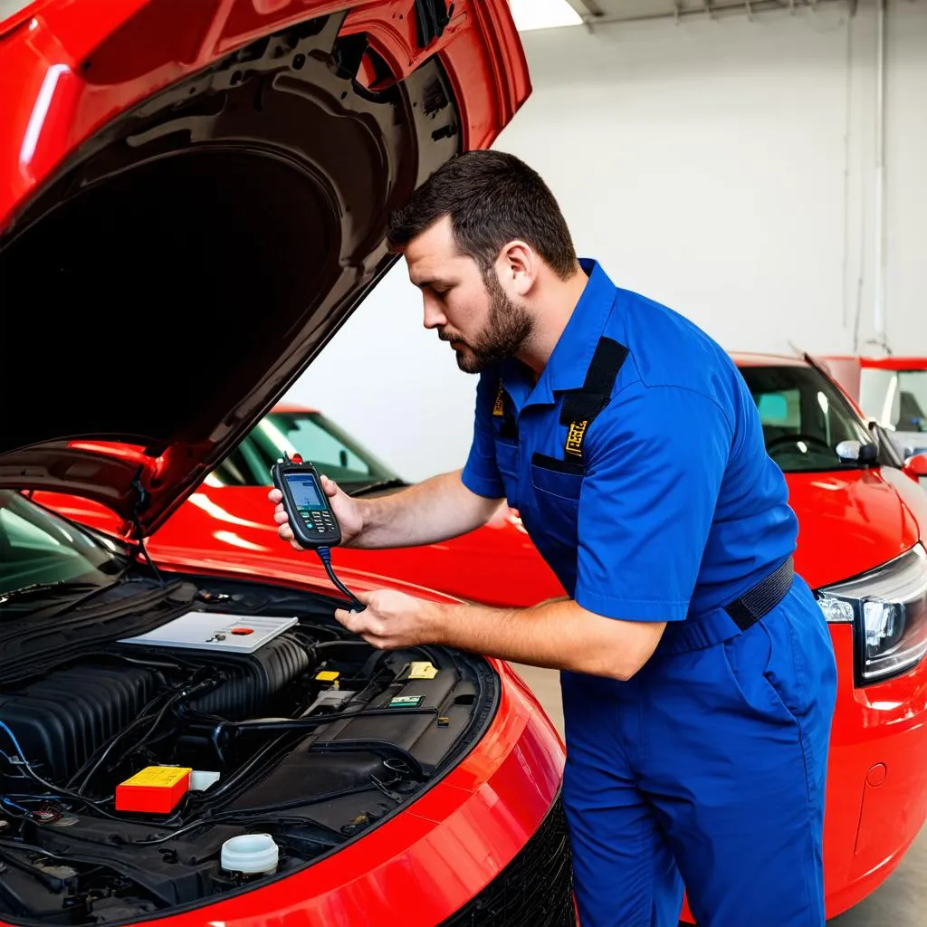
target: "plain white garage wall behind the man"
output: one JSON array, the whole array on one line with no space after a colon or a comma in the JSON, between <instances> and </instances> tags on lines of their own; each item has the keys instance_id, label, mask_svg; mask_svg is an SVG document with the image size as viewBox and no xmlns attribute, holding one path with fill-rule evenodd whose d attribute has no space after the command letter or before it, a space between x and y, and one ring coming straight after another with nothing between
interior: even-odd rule
<instances>
[{"instance_id":1,"label":"plain white garage wall behind the man","mask_svg":"<svg viewBox=\"0 0 927 927\"><path fill-rule=\"evenodd\" d=\"M581 254L725 347L850 350L858 316L867 349L874 8L526 33L534 94L497 147L545 177ZM891 0L887 26L885 327L927 352L927 2ZM463 464L475 386L400 264L290 395L416 479Z\"/></svg>"}]
</instances>

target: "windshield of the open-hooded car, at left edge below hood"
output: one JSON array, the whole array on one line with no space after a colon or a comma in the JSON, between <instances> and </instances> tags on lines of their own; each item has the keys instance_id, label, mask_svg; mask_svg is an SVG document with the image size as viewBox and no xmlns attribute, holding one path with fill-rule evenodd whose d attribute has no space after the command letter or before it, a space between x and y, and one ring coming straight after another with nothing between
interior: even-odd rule
<instances>
[{"instance_id":1,"label":"windshield of the open-hooded car, at left edge below hood","mask_svg":"<svg viewBox=\"0 0 927 927\"><path fill-rule=\"evenodd\" d=\"M97 540L19 492L0 489L0 616L43 590L108 586L125 558L114 542Z\"/></svg>"}]
</instances>

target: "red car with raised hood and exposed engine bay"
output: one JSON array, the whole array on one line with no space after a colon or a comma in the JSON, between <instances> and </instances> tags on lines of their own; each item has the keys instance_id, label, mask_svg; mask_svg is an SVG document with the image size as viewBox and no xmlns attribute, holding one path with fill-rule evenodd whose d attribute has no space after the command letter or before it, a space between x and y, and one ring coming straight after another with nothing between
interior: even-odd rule
<instances>
[{"instance_id":1,"label":"red car with raised hood and exposed engine bay","mask_svg":"<svg viewBox=\"0 0 927 927\"><path fill-rule=\"evenodd\" d=\"M505 0L40 0L0 66L0 921L573 924L508 667L373 650L282 548L143 549L527 97Z\"/></svg>"}]
</instances>

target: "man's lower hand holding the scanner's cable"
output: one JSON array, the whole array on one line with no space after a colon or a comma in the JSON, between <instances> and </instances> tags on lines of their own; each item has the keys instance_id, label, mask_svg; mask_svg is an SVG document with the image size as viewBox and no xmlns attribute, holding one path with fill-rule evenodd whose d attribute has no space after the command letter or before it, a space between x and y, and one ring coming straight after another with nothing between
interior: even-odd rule
<instances>
[{"instance_id":1,"label":"man's lower hand holding the scanner's cable","mask_svg":"<svg viewBox=\"0 0 927 927\"><path fill-rule=\"evenodd\" d=\"M438 606L404 592L358 592L367 607L362 612L338 608L335 617L377 650L398 650L436 642Z\"/></svg>"}]
</instances>

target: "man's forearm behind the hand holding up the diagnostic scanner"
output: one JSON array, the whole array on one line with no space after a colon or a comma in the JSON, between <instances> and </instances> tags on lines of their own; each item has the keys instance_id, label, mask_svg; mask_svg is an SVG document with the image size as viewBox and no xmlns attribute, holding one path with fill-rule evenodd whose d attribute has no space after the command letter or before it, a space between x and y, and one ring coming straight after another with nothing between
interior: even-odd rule
<instances>
[{"instance_id":1,"label":"man's forearm behind the hand holding up the diagnostic scanner","mask_svg":"<svg viewBox=\"0 0 927 927\"><path fill-rule=\"evenodd\" d=\"M386 548L456 538L484 525L499 502L467 489L458 470L378 499L359 499L357 504L363 529L349 546Z\"/></svg>"}]
</instances>

